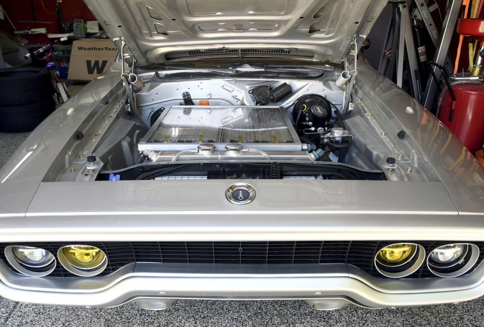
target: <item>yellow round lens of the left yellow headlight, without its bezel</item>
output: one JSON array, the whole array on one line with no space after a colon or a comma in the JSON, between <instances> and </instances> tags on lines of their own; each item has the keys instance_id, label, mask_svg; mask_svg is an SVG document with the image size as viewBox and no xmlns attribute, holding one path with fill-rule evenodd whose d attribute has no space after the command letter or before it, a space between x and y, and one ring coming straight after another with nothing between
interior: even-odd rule
<instances>
[{"instance_id":1,"label":"yellow round lens of the left yellow headlight, without its bezel","mask_svg":"<svg viewBox=\"0 0 484 327\"><path fill-rule=\"evenodd\" d=\"M95 246L71 245L62 249L66 260L77 269L90 270L104 263L106 255Z\"/></svg>"}]
</instances>

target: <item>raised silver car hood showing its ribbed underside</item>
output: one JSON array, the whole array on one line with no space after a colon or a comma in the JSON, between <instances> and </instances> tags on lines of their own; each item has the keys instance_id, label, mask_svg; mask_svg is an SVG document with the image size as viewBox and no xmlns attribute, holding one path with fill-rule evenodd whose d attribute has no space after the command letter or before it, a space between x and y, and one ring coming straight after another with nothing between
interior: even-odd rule
<instances>
[{"instance_id":1,"label":"raised silver car hood showing its ribbed underside","mask_svg":"<svg viewBox=\"0 0 484 327\"><path fill-rule=\"evenodd\" d=\"M141 66L198 58L339 63L361 46L387 0L85 0ZM126 48L125 48L126 49Z\"/></svg>"}]
</instances>

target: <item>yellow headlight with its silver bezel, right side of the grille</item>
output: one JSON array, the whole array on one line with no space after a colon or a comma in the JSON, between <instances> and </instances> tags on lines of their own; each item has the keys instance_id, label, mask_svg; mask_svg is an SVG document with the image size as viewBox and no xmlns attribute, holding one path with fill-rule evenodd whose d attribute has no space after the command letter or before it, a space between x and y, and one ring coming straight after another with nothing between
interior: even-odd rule
<instances>
[{"instance_id":1,"label":"yellow headlight with its silver bezel, right side of the grille","mask_svg":"<svg viewBox=\"0 0 484 327\"><path fill-rule=\"evenodd\" d=\"M425 249L414 243L395 243L382 247L375 255L380 274L401 278L413 274L425 260Z\"/></svg>"}]
</instances>

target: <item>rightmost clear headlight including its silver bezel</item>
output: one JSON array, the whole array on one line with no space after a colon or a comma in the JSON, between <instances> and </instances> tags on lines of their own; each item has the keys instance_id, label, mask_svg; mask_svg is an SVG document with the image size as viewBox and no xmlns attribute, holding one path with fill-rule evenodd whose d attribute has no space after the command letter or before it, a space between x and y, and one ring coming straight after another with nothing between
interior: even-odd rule
<instances>
[{"instance_id":1,"label":"rightmost clear headlight including its silver bezel","mask_svg":"<svg viewBox=\"0 0 484 327\"><path fill-rule=\"evenodd\" d=\"M430 252L427 267L439 277L457 277L471 269L478 256L479 248L474 244L446 244Z\"/></svg>"}]
</instances>

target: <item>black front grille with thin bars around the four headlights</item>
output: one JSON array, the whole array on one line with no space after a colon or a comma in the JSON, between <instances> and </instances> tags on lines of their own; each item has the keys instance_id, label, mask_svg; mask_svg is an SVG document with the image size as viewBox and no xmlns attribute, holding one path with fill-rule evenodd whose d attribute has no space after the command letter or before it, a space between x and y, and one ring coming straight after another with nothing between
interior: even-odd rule
<instances>
[{"instance_id":1,"label":"black front grille with thin bars around the four headlights","mask_svg":"<svg viewBox=\"0 0 484 327\"><path fill-rule=\"evenodd\" d=\"M236 264L236 265L308 265L347 264L366 273L383 277L374 266L377 251L392 243L417 243L426 253L444 244L465 241L243 241L243 242L38 242L0 244L0 258L5 262L8 245L44 248L52 253L68 244L89 244L99 247L108 257L108 265L98 276L109 275L130 263ZM473 242L480 250L478 265L484 259L484 242ZM475 265L475 266L476 266ZM475 268L474 266L474 268ZM472 271L472 268L470 271ZM469 271L469 272L470 272ZM49 277L72 277L57 260ZM433 278L424 263L407 278Z\"/></svg>"}]
</instances>

